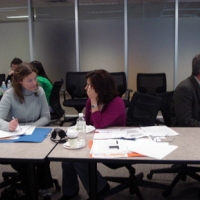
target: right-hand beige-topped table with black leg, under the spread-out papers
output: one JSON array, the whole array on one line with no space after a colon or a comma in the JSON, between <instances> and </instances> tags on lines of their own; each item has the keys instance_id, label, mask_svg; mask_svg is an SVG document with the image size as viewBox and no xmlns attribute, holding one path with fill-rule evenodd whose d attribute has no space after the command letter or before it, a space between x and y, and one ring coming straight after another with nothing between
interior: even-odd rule
<instances>
[{"instance_id":1,"label":"right-hand beige-topped table with black leg, under the spread-out papers","mask_svg":"<svg viewBox=\"0 0 200 200\"><path fill-rule=\"evenodd\" d=\"M113 129L113 128L112 128ZM116 128L117 129L117 128ZM62 144L58 144L48 155L50 161L67 162L87 162L89 165L90 197L97 199L97 163L123 163L127 164L200 164L200 129L199 128L172 128L179 135L170 143L178 148L165 156L163 159L150 157L127 157L127 158L91 158L90 148L86 146L82 149L65 149ZM93 133L87 134L87 141L93 138Z\"/></svg>"}]
</instances>

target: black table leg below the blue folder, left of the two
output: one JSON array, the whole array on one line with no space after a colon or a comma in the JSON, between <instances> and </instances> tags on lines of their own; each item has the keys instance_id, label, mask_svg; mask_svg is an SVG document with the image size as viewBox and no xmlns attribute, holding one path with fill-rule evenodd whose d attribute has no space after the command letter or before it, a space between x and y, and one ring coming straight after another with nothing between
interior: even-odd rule
<instances>
[{"instance_id":1,"label":"black table leg below the blue folder, left of the two","mask_svg":"<svg viewBox=\"0 0 200 200\"><path fill-rule=\"evenodd\" d=\"M29 188L29 198L31 200L38 200L37 184L36 184L36 174L35 174L35 164L28 164L28 188Z\"/></svg>"}]
</instances>

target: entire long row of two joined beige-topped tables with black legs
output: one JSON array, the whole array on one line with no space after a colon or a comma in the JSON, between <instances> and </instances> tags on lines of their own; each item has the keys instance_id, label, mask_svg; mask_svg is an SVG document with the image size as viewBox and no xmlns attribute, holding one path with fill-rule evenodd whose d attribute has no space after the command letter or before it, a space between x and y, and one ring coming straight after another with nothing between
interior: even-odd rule
<instances>
[{"instance_id":1,"label":"entire long row of two joined beige-topped tables with black legs","mask_svg":"<svg viewBox=\"0 0 200 200\"><path fill-rule=\"evenodd\" d=\"M54 127L52 127L54 128ZM67 130L67 127L59 127ZM112 128L113 129L113 128ZM0 144L0 163L1 162L26 162L29 165L28 177L30 188L30 199L37 200L37 187L35 180L35 163L49 161L57 162L86 162L89 165L90 197L97 199L97 163L123 163L127 164L200 164L200 129L199 128L172 128L179 133L170 143L177 145L178 148L163 159L150 157L127 157L127 158L91 158L90 148L69 150L62 144L54 143L50 136L41 143L1 143ZM116 128L117 130L117 128ZM49 134L50 135L50 134ZM93 139L94 133L87 134L87 141Z\"/></svg>"}]
</instances>

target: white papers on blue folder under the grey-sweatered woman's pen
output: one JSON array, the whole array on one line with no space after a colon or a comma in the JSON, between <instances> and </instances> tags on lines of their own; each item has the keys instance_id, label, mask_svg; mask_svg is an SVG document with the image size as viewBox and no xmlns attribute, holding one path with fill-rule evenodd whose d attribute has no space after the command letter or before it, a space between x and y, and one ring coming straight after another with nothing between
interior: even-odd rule
<instances>
[{"instance_id":1,"label":"white papers on blue folder under the grey-sweatered woman's pen","mask_svg":"<svg viewBox=\"0 0 200 200\"><path fill-rule=\"evenodd\" d=\"M0 130L0 138L12 138L20 135L31 135L35 129L35 126L18 126L13 132Z\"/></svg>"}]
</instances>

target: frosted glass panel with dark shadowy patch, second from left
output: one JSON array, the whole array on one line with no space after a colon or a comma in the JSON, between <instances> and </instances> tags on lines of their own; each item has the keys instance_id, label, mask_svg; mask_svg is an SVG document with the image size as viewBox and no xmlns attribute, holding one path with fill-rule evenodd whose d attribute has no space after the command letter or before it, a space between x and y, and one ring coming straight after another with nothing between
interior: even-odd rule
<instances>
[{"instance_id":1,"label":"frosted glass panel with dark shadowy patch, second from left","mask_svg":"<svg viewBox=\"0 0 200 200\"><path fill-rule=\"evenodd\" d=\"M33 1L35 59L49 78L65 80L76 70L74 1ZM64 86L63 86L64 87Z\"/></svg>"}]
</instances>

